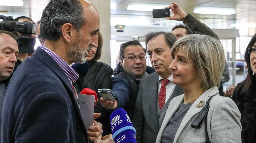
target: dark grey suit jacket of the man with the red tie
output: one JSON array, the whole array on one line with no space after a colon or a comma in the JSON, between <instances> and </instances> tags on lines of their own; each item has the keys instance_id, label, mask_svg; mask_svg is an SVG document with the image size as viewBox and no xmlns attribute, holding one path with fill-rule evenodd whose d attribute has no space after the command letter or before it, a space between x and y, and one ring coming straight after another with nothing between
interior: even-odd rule
<instances>
[{"instance_id":1,"label":"dark grey suit jacket of the man with the red tie","mask_svg":"<svg viewBox=\"0 0 256 143\"><path fill-rule=\"evenodd\" d=\"M133 126L137 131L137 143L155 143L170 100L183 94L182 88L176 85L172 96L159 111L157 92L158 74L156 72L141 79L133 115Z\"/></svg>"}]
</instances>

